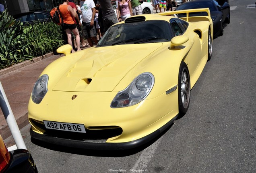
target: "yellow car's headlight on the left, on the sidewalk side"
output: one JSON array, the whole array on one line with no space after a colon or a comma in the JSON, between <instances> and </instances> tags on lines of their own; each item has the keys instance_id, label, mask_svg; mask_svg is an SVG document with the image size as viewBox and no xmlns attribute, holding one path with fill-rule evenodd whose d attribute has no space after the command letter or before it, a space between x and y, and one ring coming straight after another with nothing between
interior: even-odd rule
<instances>
[{"instance_id":1,"label":"yellow car's headlight on the left, on the sidewalk side","mask_svg":"<svg viewBox=\"0 0 256 173\"><path fill-rule=\"evenodd\" d=\"M43 74L35 82L32 95L31 95L31 99L34 103L39 104L43 100L43 97L48 91L47 89L48 79L49 79L48 75Z\"/></svg>"}]
</instances>

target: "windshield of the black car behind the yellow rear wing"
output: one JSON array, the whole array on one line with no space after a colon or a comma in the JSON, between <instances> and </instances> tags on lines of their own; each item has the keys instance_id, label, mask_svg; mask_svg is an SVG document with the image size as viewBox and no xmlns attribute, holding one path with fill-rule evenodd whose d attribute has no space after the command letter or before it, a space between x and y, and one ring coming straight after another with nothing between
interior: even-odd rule
<instances>
[{"instance_id":1,"label":"windshield of the black car behind the yellow rear wing","mask_svg":"<svg viewBox=\"0 0 256 173\"><path fill-rule=\"evenodd\" d=\"M200 1L200 2L192 2L192 3L184 3L180 5L176 10L188 10L188 9L196 9L196 8L209 8L210 11L217 11L217 7L212 1Z\"/></svg>"}]
</instances>

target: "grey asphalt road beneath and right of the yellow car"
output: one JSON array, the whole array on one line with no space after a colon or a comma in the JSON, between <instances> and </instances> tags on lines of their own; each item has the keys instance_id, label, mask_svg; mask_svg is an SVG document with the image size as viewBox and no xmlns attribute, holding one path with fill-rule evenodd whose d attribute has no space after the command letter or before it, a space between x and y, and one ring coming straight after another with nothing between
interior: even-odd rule
<instances>
[{"instance_id":1,"label":"grey asphalt road beneath and right of the yellow car","mask_svg":"<svg viewBox=\"0 0 256 173\"><path fill-rule=\"evenodd\" d=\"M39 172L255 173L256 8L246 8L254 0L229 3L231 23L213 40L213 57L186 115L149 145L127 152L40 147L31 143L28 125L22 135Z\"/></svg>"}]
</instances>

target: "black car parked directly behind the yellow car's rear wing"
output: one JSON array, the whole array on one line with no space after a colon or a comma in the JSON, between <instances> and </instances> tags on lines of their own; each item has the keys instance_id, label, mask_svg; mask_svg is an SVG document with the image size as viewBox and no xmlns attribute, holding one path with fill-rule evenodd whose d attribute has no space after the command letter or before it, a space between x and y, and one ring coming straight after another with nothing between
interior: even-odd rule
<instances>
[{"instance_id":1,"label":"black car parked directly behind the yellow car's rear wing","mask_svg":"<svg viewBox=\"0 0 256 173\"><path fill-rule=\"evenodd\" d=\"M219 4L216 0L194 0L181 4L176 10L188 10L196 8L209 8L211 18L213 20L213 35L222 36L224 33L225 24L230 23L230 6L227 2L223 1L223 5ZM185 14L184 14L185 15ZM179 14L179 18L184 17ZM191 14L198 15L198 14ZM206 15L206 14L201 14Z\"/></svg>"}]
</instances>

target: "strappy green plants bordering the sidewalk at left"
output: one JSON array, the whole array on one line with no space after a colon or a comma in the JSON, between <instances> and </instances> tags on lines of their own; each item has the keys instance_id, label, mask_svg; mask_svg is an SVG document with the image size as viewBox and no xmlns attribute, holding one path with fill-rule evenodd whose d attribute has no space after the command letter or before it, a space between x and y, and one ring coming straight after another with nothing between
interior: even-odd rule
<instances>
[{"instance_id":1,"label":"strappy green plants bordering the sidewalk at left","mask_svg":"<svg viewBox=\"0 0 256 173\"><path fill-rule=\"evenodd\" d=\"M60 26L53 22L33 25L0 14L0 69L53 52L64 44Z\"/></svg>"}]
</instances>

